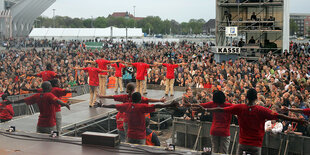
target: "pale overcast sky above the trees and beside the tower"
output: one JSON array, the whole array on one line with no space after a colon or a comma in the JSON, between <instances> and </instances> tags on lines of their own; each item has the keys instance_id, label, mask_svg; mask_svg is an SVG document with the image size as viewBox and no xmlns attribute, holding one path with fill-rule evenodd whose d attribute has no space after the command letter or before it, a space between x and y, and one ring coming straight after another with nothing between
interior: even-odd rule
<instances>
[{"instance_id":1,"label":"pale overcast sky above the trees and beside the tower","mask_svg":"<svg viewBox=\"0 0 310 155\"><path fill-rule=\"evenodd\" d=\"M290 0L291 13L310 13L309 0ZM56 0L43 16L52 17L53 9L59 16L91 18L107 17L113 12L131 12L136 6L136 17L159 16L188 22L190 19L215 18L215 0Z\"/></svg>"}]
</instances>

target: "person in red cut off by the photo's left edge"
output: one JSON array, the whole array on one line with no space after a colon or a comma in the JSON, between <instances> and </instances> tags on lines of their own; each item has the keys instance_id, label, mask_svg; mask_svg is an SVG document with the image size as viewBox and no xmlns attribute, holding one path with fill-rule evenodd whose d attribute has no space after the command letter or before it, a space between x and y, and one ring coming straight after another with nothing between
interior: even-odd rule
<instances>
[{"instance_id":1,"label":"person in red cut off by the photo's left edge","mask_svg":"<svg viewBox=\"0 0 310 155\"><path fill-rule=\"evenodd\" d=\"M2 102L0 103L0 123L9 121L14 116L14 110L11 104L6 105L8 94L2 94Z\"/></svg>"}]
</instances>

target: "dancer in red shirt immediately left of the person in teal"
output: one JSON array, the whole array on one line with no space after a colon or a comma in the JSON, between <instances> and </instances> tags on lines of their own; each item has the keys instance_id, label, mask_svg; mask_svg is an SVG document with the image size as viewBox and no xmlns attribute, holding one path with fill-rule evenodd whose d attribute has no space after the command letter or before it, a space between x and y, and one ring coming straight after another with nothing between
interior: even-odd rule
<instances>
[{"instance_id":1,"label":"dancer in red shirt immediately left of the person in teal","mask_svg":"<svg viewBox=\"0 0 310 155\"><path fill-rule=\"evenodd\" d=\"M115 82L115 90L114 92L117 93L118 87L120 90L120 93L124 92L123 88L123 74L122 74L122 68L125 68L126 66L122 63L115 63L111 65L112 67L115 68L115 77L116 77L116 82Z\"/></svg>"}]
</instances>

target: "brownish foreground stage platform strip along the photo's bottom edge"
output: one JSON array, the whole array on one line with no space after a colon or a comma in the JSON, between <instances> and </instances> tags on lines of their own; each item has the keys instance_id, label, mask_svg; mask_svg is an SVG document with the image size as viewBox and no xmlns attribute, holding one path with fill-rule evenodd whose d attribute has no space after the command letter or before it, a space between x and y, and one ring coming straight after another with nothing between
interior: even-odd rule
<instances>
[{"instance_id":1,"label":"brownish foreground stage platform strip along the photo's bottom edge","mask_svg":"<svg viewBox=\"0 0 310 155\"><path fill-rule=\"evenodd\" d=\"M119 155L119 154L201 154L186 149L165 151L163 147L121 144L118 147L82 145L78 137L50 138L45 134L6 133L0 130L1 155Z\"/></svg>"}]
</instances>

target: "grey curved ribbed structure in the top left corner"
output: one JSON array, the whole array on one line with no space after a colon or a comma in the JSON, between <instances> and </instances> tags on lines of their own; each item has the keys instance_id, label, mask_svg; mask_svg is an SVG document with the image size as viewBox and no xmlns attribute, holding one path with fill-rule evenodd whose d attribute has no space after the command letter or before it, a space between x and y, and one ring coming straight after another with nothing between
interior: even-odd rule
<instances>
[{"instance_id":1,"label":"grey curved ribbed structure in the top left corner","mask_svg":"<svg viewBox=\"0 0 310 155\"><path fill-rule=\"evenodd\" d=\"M35 19L56 0L0 0L0 37L26 37Z\"/></svg>"}]
</instances>

